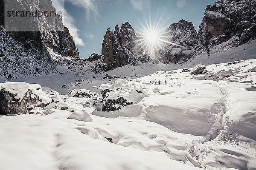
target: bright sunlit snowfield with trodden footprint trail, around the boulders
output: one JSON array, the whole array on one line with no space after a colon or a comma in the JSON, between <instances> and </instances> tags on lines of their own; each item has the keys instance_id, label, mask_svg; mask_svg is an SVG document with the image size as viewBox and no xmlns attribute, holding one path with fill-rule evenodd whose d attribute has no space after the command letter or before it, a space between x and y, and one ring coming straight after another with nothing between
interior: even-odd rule
<instances>
[{"instance_id":1,"label":"bright sunlit snowfield with trodden footprint trail, around the boulders","mask_svg":"<svg viewBox=\"0 0 256 170\"><path fill-rule=\"evenodd\" d=\"M115 88L148 94L117 111L101 111L99 85L118 78L88 73L77 83L77 71L22 80L48 87L45 95L58 91L66 102L47 114L37 107L36 114L0 117L0 170L255 170L256 43L227 50L221 45L209 58L181 66L147 63L108 71L128 79ZM206 74L182 72L198 63ZM96 104L68 96L74 88L92 90ZM59 110L64 103L72 109Z\"/></svg>"}]
</instances>

